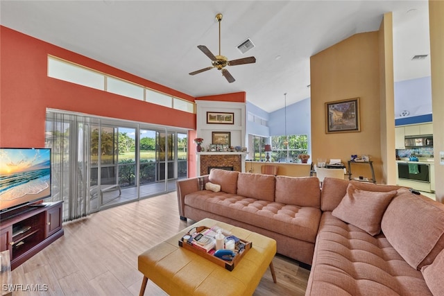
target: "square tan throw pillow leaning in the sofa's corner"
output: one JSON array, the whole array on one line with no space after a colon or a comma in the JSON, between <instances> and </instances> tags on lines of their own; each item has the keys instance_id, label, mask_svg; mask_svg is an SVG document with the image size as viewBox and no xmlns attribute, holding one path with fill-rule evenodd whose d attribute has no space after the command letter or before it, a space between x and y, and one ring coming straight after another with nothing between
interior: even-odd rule
<instances>
[{"instance_id":1,"label":"square tan throw pillow leaning in the sofa's corner","mask_svg":"<svg viewBox=\"0 0 444 296\"><path fill-rule=\"evenodd\" d=\"M332 211L332 215L375 236L381 232L382 215L396 193L395 190L364 191L349 184L347 193L338 207Z\"/></svg>"}]
</instances>

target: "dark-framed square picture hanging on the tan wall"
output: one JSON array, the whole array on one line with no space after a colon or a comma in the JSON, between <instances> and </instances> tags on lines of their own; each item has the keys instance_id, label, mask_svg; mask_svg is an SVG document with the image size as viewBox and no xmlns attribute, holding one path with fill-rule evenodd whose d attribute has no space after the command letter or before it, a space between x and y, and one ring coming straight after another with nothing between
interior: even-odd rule
<instances>
[{"instance_id":1,"label":"dark-framed square picture hanging on the tan wall","mask_svg":"<svg viewBox=\"0 0 444 296\"><path fill-rule=\"evenodd\" d=\"M360 132L359 98L325 103L325 131Z\"/></svg>"}]
</instances>

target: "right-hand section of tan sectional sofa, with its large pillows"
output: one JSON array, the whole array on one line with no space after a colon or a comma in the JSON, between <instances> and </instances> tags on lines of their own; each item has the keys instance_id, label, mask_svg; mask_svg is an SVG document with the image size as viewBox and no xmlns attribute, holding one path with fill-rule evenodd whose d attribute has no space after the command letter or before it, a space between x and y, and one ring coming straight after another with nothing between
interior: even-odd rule
<instances>
[{"instance_id":1,"label":"right-hand section of tan sectional sofa, with its large pillows","mask_svg":"<svg viewBox=\"0 0 444 296\"><path fill-rule=\"evenodd\" d=\"M327 178L321 210L305 295L444 295L444 204ZM381 231L368 233L372 223Z\"/></svg>"}]
</instances>

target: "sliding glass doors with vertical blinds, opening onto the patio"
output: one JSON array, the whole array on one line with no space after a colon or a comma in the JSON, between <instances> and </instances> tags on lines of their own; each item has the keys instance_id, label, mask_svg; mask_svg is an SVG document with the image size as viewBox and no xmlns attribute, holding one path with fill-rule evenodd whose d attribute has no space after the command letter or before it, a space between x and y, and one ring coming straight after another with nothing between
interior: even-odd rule
<instances>
[{"instance_id":1,"label":"sliding glass doors with vertical blinds, opening onto the patio","mask_svg":"<svg viewBox=\"0 0 444 296\"><path fill-rule=\"evenodd\" d=\"M187 177L186 131L48 112L46 134L48 146L55 151L75 153L54 153L62 155L60 170L67 173L55 174L60 182L53 184L60 189L53 192L78 187L80 200L87 202L83 205L87 214L89 209L99 211L174 191L176 180ZM69 190L64 195L74 194Z\"/></svg>"}]
</instances>

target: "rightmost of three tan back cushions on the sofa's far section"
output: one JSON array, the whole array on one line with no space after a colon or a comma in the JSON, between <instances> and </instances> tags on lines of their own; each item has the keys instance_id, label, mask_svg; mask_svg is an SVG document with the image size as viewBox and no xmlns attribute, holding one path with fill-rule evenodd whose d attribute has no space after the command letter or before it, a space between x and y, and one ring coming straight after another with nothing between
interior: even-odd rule
<instances>
[{"instance_id":1,"label":"rightmost of three tan back cushions on the sofa's far section","mask_svg":"<svg viewBox=\"0 0 444 296\"><path fill-rule=\"evenodd\" d=\"M321 188L317 177L276 176L275 201L300 207L321 207Z\"/></svg>"}]
</instances>

